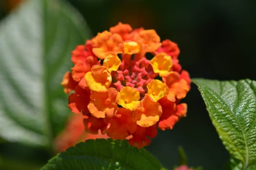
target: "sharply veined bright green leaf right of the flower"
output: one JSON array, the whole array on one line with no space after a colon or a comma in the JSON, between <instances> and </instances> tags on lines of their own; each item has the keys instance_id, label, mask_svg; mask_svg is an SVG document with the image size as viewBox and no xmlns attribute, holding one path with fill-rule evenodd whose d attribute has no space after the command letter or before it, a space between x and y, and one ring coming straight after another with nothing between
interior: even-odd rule
<instances>
[{"instance_id":1,"label":"sharply veined bright green leaf right of the flower","mask_svg":"<svg viewBox=\"0 0 256 170\"><path fill-rule=\"evenodd\" d=\"M256 163L256 81L193 79L217 133L242 169Z\"/></svg>"}]
</instances>

